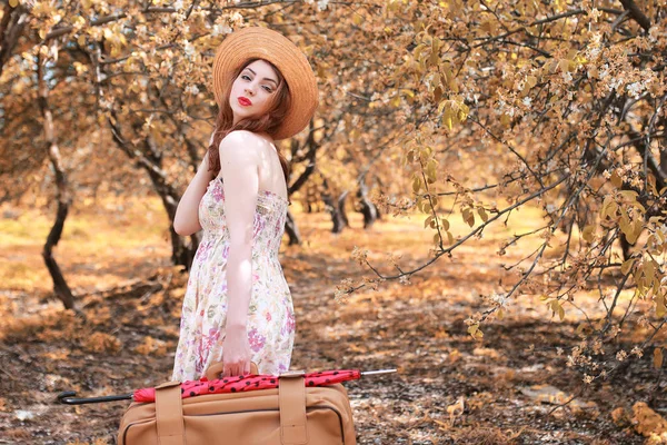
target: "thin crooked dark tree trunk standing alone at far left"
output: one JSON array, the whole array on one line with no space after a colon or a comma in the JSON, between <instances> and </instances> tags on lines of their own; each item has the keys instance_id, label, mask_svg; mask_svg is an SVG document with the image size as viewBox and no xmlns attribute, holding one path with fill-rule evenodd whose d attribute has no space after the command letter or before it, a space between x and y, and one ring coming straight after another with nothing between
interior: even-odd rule
<instances>
[{"instance_id":1,"label":"thin crooked dark tree trunk standing alone at far left","mask_svg":"<svg viewBox=\"0 0 667 445\"><path fill-rule=\"evenodd\" d=\"M53 247L58 246L58 241L60 241L60 237L62 236L64 220L67 219L72 198L68 189L67 176L64 175L64 169L62 168L60 150L58 148L58 144L56 144L53 115L48 100L49 88L43 79L42 60L40 57L38 57L37 60L37 78L39 85L38 105L44 119L46 149L49 155L49 160L51 161L51 167L56 174L56 200L58 201L56 221L53 221L53 226L47 236L47 241L42 249L42 258L44 259L44 264L49 269L51 279L53 280L53 294L62 301L62 305L66 309L73 309L74 297L67 284L67 280L64 279L64 276L62 275L62 271L60 270L60 267L58 266L58 261L56 261L56 258L53 257Z\"/></svg>"}]
</instances>

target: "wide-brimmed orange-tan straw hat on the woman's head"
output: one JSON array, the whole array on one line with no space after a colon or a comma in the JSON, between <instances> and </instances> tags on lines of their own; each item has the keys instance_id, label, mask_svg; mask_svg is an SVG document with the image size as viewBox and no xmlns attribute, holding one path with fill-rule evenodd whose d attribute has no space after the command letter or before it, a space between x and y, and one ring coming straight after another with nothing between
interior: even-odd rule
<instances>
[{"instance_id":1,"label":"wide-brimmed orange-tan straw hat on the woman's head","mask_svg":"<svg viewBox=\"0 0 667 445\"><path fill-rule=\"evenodd\" d=\"M291 105L275 131L273 139L287 139L310 121L318 102L315 73L306 56L288 38L267 28L245 28L229 34L213 60L213 95L220 106L223 92L231 90L233 76L250 59L265 59L276 66L287 81Z\"/></svg>"}]
</instances>

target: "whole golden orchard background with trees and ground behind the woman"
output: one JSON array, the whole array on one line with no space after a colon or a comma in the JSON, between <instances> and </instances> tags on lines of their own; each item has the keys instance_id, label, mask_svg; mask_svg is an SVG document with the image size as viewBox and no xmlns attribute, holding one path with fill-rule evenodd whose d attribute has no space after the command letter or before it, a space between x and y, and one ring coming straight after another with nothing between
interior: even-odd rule
<instances>
[{"instance_id":1,"label":"whole golden orchard background with trees and ground behind the woman","mask_svg":"<svg viewBox=\"0 0 667 445\"><path fill-rule=\"evenodd\" d=\"M348 385L360 444L667 442L667 1L0 4L0 443L113 443L125 406L54 396L168 378L246 26L320 95L281 142L292 365L399 369Z\"/></svg>"}]
</instances>

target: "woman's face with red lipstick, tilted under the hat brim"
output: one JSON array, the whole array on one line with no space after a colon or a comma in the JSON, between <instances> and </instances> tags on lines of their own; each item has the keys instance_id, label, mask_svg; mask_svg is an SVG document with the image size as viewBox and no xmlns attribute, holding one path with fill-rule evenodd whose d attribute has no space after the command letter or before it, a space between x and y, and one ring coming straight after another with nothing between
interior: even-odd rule
<instances>
[{"instance_id":1,"label":"woman's face with red lipstick, tilted under the hat brim","mask_svg":"<svg viewBox=\"0 0 667 445\"><path fill-rule=\"evenodd\" d=\"M278 76L269 63L256 60L246 66L231 85L229 95L233 123L266 113L277 89Z\"/></svg>"}]
</instances>

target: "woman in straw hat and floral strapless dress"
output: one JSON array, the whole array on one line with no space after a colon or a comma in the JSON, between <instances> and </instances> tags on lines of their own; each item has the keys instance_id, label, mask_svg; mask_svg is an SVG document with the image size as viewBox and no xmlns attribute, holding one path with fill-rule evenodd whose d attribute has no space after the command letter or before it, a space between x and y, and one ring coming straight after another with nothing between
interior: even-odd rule
<instances>
[{"instance_id":1,"label":"woman in straw hat and floral strapless dress","mask_svg":"<svg viewBox=\"0 0 667 445\"><path fill-rule=\"evenodd\" d=\"M306 57L265 28L228 36L213 62L219 107L210 147L173 219L203 229L183 300L172 379L280 374L295 337L291 295L278 261L287 216L288 164L275 140L301 131L317 108Z\"/></svg>"}]
</instances>

